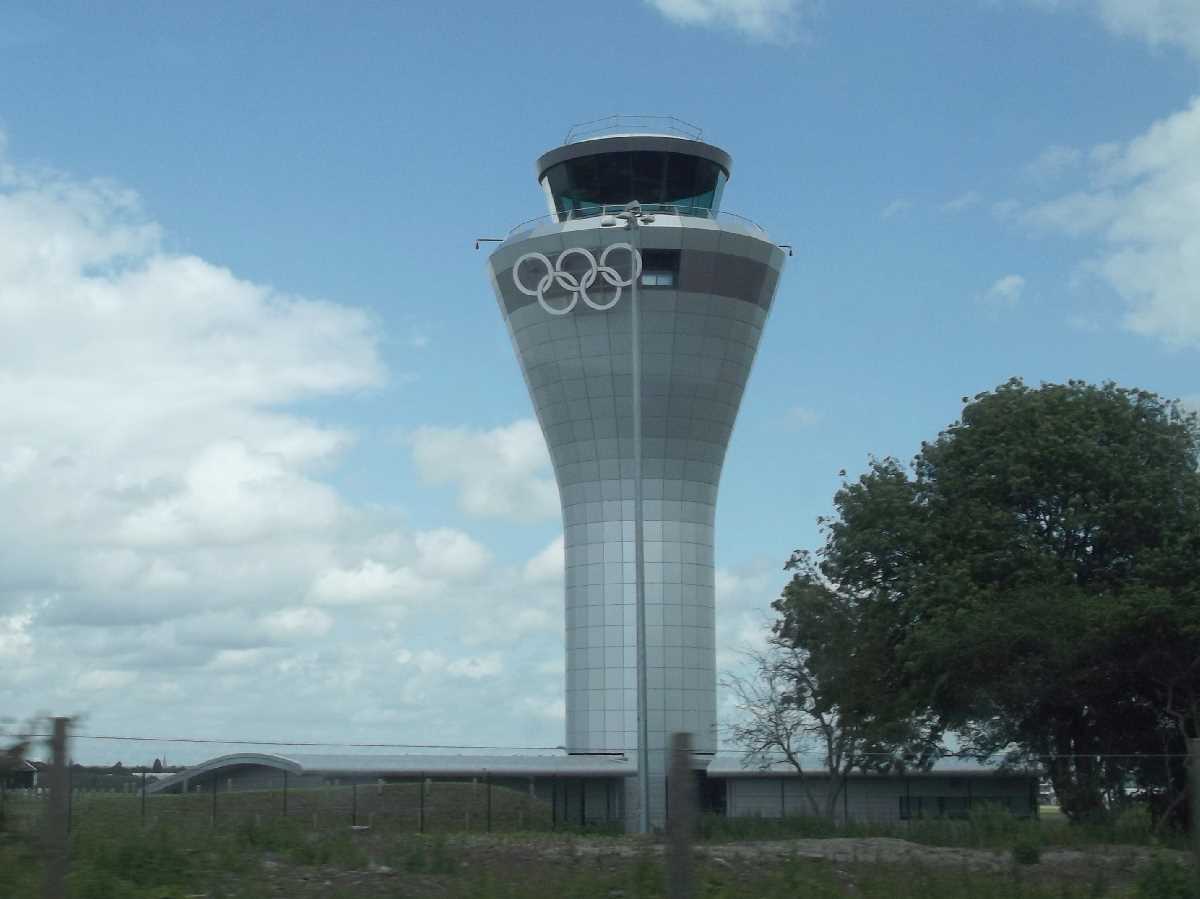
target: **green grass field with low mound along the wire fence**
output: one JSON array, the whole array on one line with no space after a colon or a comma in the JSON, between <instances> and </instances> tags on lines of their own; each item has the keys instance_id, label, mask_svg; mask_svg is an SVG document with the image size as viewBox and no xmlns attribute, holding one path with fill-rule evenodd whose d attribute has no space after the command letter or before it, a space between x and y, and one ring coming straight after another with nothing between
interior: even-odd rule
<instances>
[{"instance_id":1,"label":"green grass field with low mound along the wire fence","mask_svg":"<svg viewBox=\"0 0 1200 899\"><path fill-rule=\"evenodd\" d=\"M650 899L665 894L661 844L606 835L599 828L550 832L548 809L518 791L493 791L493 828L505 832L487 834L475 816L478 787L436 784L426 797L427 832L421 834L406 802L413 799L412 807L419 807L415 785L377 791L379 803L373 809L362 787L348 803L347 790L293 791L287 817L276 814L282 813L282 803L275 804L281 797L270 791L218 796L216 827L210 796L154 797L145 826L137 796L77 797L71 895ZM301 795L307 792L320 796ZM6 803L8 829L0 833L2 899L40 895L36 813L41 808L34 802L22 807L11 797ZM395 816L389 817L386 809ZM352 827L355 813L362 817ZM470 832L464 831L468 821ZM1154 846L1146 825L1145 819L1129 817L1106 829L1076 828L1057 820L1018 821L990 809L968 821L900 827L704 819L695 849L696 895L1200 899L1193 871L1181 863L1186 856Z\"/></svg>"}]
</instances>

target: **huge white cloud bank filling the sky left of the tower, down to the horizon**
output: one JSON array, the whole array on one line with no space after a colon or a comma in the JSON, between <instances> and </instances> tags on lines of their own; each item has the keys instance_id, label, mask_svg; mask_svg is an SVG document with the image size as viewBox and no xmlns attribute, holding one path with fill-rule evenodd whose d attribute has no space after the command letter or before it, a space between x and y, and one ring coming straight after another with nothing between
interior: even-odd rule
<instances>
[{"instance_id":1,"label":"huge white cloud bank filling the sky left of the tower, down to the horizon","mask_svg":"<svg viewBox=\"0 0 1200 899\"><path fill-rule=\"evenodd\" d=\"M295 412L388 386L372 320L168 245L132 191L0 150L0 708L127 735L560 741L510 700L562 654L562 575L350 502L326 475L355 434ZM557 515L534 422L458 436L505 473L450 471L472 508Z\"/></svg>"}]
</instances>

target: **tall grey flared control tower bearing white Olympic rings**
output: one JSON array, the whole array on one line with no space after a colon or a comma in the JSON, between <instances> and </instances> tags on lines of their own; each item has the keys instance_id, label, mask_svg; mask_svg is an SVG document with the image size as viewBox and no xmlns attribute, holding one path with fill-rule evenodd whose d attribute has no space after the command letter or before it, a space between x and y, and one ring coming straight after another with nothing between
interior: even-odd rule
<instances>
[{"instance_id":1,"label":"tall grey flared control tower bearing white Olympic rings","mask_svg":"<svg viewBox=\"0 0 1200 899\"><path fill-rule=\"evenodd\" d=\"M665 821L670 735L716 749L716 492L784 252L721 210L732 160L697 130L581 127L538 160L550 215L488 268L563 505L566 750L644 760L637 829Z\"/></svg>"}]
</instances>

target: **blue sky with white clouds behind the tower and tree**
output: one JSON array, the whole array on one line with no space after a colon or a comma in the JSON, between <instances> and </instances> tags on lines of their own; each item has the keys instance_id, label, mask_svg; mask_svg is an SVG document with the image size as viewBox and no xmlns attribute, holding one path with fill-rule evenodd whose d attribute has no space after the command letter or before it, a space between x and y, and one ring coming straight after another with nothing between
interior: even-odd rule
<instances>
[{"instance_id":1,"label":"blue sky with white clouds behind the tower and tree","mask_svg":"<svg viewBox=\"0 0 1200 899\"><path fill-rule=\"evenodd\" d=\"M961 396L1200 400L1200 0L420 6L0 7L0 718L562 742L557 490L473 240L600 115L701 125L797 247L722 665L838 471Z\"/></svg>"}]
</instances>

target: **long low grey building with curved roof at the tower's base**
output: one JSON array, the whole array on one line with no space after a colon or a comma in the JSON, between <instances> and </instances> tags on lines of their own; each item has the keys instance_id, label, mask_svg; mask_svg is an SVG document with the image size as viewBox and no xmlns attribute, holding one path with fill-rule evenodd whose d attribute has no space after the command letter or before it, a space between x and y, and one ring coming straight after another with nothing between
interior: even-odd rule
<instances>
[{"instance_id":1,"label":"long low grey building with curved roof at the tower's base","mask_svg":"<svg viewBox=\"0 0 1200 899\"><path fill-rule=\"evenodd\" d=\"M697 756L701 810L727 817L816 816L826 808L829 777L818 760L794 767L748 760L743 753ZM606 755L304 755L238 753L162 778L152 793L293 791L337 786L421 784L420 803L439 783L472 784L486 802L493 790L539 803L553 825L618 825L625 816L625 784L637 773L624 754ZM670 784L667 785L670 791ZM358 803L358 792L354 793ZM367 793L364 793L364 803ZM414 793L418 796L418 793ZM415 802L409 798L409 803ZM347 799L349 802L349 799ZM942 759L926 771L853 772L833 803L839 823L888 823L966 817L997 805L1016 816L1038 810L1038 773L971 759ZM284 804L284 809L287 805ZM364 804L364 808L366 805ZM414 811L416 811L414 809ZM424 811L416 814L424 815ZM482 813L480 813L481 815Z\"/></svg>"}]
</instances>

